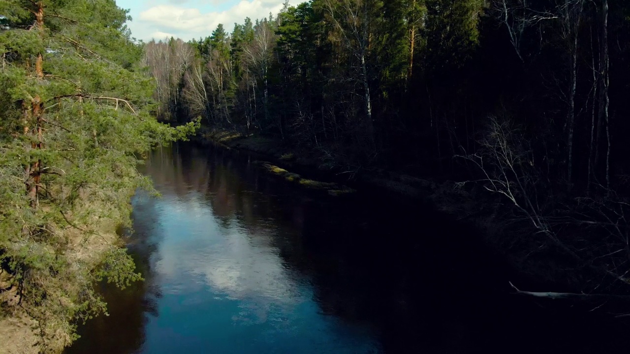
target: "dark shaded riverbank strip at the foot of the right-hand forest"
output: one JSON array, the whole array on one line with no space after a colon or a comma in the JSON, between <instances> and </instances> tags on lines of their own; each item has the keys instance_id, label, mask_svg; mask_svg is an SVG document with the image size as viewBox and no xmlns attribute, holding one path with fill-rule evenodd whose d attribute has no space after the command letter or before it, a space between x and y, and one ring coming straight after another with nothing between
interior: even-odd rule
<instances>
[{"instance_id":1,"label":"dark shaded riverbank strip at the foot of the right-hand forest","mask_svg":"<svg viewBox=\"0 0 630 354\"><path fill-rule=\"evenodd\" d=\"M561 251L554 251L527 217L516 216L518 210L506 203L503 195L490 193L476 183L432 180L377 168L343 171L330 168L326 165L329 161L323 161L321 155L312 151L295 151L277 140L260 135L244 136L217 130L205 134L203 139L226 149L259 154L288 174L292 174L293 169L311 171L330 180L343 181L351 188L378 188L428 203L435 210L450 215L458 222L465 222L483 234L481 242L512 266L515 279L522 287L579 293L598 276L592 266L576 264L575 259L568 258Z\"/></svg>"}]
</instances>

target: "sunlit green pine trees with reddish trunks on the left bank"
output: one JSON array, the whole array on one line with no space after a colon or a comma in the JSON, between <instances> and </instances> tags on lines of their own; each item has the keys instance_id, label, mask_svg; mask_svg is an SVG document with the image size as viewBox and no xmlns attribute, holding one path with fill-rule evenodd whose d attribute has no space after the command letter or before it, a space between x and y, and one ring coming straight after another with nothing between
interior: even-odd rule
<instances>
[{"instance_id":1,"label":"sunlit green pine trees with reddish trunks on the left bank","mask_svg":"<svg viewBox=\"0 0 630 354\"><path fill-rule=\"evenodd\" d=\"M0 351L57 352L106 311L100 280L140 279L116 236L151 188L137 163L193 127L151 114L113 0L4 0L0 15Z\"/></svg>"}]
</instances>

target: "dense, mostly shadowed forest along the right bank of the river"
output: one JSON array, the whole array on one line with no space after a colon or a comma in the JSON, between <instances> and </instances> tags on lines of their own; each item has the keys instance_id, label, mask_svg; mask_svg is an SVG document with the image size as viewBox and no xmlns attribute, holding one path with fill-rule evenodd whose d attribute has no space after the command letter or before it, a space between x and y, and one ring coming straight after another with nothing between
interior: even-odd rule
<instances>
[{"instance_id":1,"label":"dense, mostly shadowed forest along the right bank of the river","mask_svg":"<svg viewBox=\"0 0 630 354\"><path fill-rule=\"evenodd\" d=\"M161 119L458 181L517 262L606 293L630 283L629 33L623 0L312 0L143 60Z\"/></svg>"}]
</instances>

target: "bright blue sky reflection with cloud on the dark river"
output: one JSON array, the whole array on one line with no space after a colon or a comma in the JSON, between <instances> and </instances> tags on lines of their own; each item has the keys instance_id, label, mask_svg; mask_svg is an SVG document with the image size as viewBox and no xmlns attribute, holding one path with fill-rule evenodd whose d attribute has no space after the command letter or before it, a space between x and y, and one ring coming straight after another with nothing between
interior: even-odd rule
<instances>
[{"instance_id":1,"label":"bright blue sky reflection with cloud on the dark river","mask_svg":"<svg viewBox=\"0 0 630 354\"><path fill-rule=\"evenodd\" d=\"M161 296L140 352L381 352L370 328L324 314L311 279L280 257L274 244L295 230L217 217L216 195L180 193L168 180L156 187L161 198L134 200L136 219L159 220L143 231L157 244L149 262Z\"/></svg>"}]
</instances>

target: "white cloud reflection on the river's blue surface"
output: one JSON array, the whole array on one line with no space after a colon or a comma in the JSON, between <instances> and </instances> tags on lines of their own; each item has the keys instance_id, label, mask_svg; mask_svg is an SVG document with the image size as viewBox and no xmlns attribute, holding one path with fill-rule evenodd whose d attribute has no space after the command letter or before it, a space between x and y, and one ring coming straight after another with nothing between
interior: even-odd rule
<instances>
[{"instance_id":1,"label":"white cloud reflection on the river's blue surface","mask_svg":"<svg viewBox=\"0 0 630 354\"><path fill-rule=\"evenodd\" d=\"M164 294L210 287L217 298L248 299L253 306L248 312L263 314L272 304L295 307L310 300L301 288L301 277L273 246L276 229L245 229L236 221L220 227L203 197L190 193L186 198L190 199L178 204L168 194L157 200L160 219L168 214L164 220L171 220L152 231L163 237L154 254L154 271L161 277Z\"/></svg>"}]
</instances>

